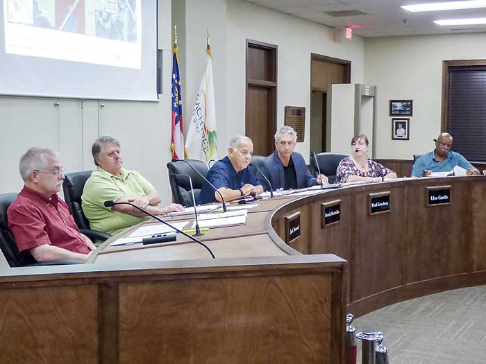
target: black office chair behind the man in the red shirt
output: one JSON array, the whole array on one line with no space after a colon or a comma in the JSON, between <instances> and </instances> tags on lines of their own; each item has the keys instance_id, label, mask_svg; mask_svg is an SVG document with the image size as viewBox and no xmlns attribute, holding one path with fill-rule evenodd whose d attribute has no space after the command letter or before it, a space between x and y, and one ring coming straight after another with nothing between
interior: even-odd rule
<instances>
[{"instance_id":1,"label":"black office chair behind the man in the red shirt","mask_svg":"<svg viewBox=\"0 0 486 364\"><path fill-rule=\"evenodd\" d=\"M7 259L10 267L23 266L57 266L64 264L80 264L83 261L74 259L57 259L54 261L37 262L32 257L30 252L22 252L19 254L17 243L8 229L7 209L12 202L17 198L17 193L1 193L0 194L0 250L3 257Z\"/></svg>"}]
</instances>

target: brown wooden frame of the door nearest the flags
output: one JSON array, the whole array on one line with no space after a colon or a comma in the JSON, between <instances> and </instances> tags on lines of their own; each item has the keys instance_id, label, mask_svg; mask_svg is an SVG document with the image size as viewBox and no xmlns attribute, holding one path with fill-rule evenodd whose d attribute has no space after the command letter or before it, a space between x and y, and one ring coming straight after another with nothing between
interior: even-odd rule
<instances>
[{"instance_id":1,"label":"brown wooden frame of the door nearest the flags","mask_svg":"<svg viewBox=\"0 0 486 364\"><path fill-rule=\"evenodd\" d=\"M253 78L248 77L248 64L249 64L249 46L255 46L255 48L260 48L260 49L266 49L269 50L273 53L274 59L275 59L275 64L273 67L273 81L269 80L255 80ZM247 98L246 96L248 95L248 86L258 86L258 87L263 87L266 89L273 89L274 93L274 102L272 105L269 106L269 119L274 121L273 130L277 129L277 101L278 101L278 94L277 94L277 85L278 85L278 46L276 44L270 44L270 43L265 43L265 42L259 42L258 40L250 40L246 38L246 49L245 49L245 89L244 89L244 96L245 96L245 135L246 135L246 110L248 109L248 104L247 104ZM267 125L268 128L269 125ZM267 144L267 149L269 146L273 146L273 135L271 141L268 142ZM273 149L270 148L269 150Z\"/></svg>"}]
</instances>

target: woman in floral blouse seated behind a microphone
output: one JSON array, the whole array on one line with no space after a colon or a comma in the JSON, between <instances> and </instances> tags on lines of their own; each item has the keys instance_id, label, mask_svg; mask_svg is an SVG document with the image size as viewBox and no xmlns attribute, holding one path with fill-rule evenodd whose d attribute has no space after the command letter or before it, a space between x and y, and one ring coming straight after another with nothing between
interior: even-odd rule
<instances>
[{"instance_id":1,"label":"woman in floral blouse seated behind a microphone","mask_svg":"<svg viewBox=\"0 0 486 364\"><path fill-rule=\"evenodd\" d=\"M356 135L351 139L351 155L337 166L336 183L379 182L384 178L396 178L396 173L379 163L368 159L368 138Z\"/></svg>"}]
</instances>

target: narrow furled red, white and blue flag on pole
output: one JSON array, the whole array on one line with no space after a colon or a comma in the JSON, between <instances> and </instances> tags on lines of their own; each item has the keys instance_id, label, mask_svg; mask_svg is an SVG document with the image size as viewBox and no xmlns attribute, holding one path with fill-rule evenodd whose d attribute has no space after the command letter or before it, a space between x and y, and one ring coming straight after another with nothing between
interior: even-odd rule
<instances>
[{"instance_id":1,"label":"narrow furled red, white and blue flag on pole","mask_svg":"<svg viewBox=\"0 0 486 364\"><path fill-rule=\"evenodd\" d=\"M184 159L181 78L179 77L177 44L174 44L172 57L172 137L170 148L173 159Z\"/></svg>"}]
</instances>

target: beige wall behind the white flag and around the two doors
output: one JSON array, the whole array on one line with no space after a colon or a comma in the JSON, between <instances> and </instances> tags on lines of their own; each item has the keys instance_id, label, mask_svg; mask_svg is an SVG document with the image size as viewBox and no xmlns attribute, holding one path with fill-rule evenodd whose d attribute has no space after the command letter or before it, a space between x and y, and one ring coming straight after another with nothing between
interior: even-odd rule
<instances>
[{"instance_id":1,"label":"beige wall behind the white flag and around the two doors","mask_svg":"<svg viewBox=\"0 0 486 364\"><path fill-rule=\"evenodd\" d=\"M184 1L182 1L184 2ZM351 60L353 83L364 80L364 42L361 37L333 41L327 26L255 6L242 0L173 0L174 24L185 24L185 127L189 125L199 89L210 31L215 80L219 155L228 141L245 133L246 39L278 46L277 123L283 125L285 105L304 106L305 141L296 150L308 159L310 146L310 54ZM181 9L185 7L185 17ZM176 10L177 8L177 10ZM179 28L179 26L178 26Z\"/></svg>"}]
</instances>

